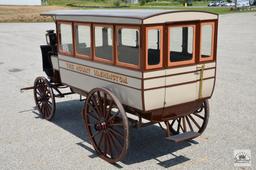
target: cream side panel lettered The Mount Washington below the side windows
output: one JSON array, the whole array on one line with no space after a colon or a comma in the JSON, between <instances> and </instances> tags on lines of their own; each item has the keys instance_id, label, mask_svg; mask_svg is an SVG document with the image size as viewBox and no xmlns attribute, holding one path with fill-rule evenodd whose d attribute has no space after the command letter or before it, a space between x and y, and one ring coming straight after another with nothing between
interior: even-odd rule
<instances>
[{"instance_id":1,"label":"cream side panel lettered The Mount Washington below the side windows","mask_svg":"<svg viewBox=\"0 0 256 170\"><path fill-rule=\"evenodd\" d=\"M62 58L62 57L60 57ZM72 60L72 61L71 61ZM82 65L76 63L74 58L69 61L61 59L60 75L64 84L89 92L96 87L110 89L124 105L142 110L141 78L137 72L116 72L114 66L95 67L97 64ZM83 61L80 63L89 62ZM104 67L106 70L103 70ZM134 73L134 74L133 74Z\"/></svg>"}]
</instances>

